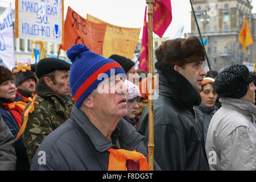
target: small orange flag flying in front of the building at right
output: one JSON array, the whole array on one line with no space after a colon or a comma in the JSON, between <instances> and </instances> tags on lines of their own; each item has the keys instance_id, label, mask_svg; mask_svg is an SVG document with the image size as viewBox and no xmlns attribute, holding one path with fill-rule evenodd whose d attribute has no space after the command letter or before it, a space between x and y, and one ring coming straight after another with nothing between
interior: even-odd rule
<instances>
[{"instance_id":1,"label":"small orange flag flying in front of the building at right","mask_svg":"<svg viewBox=\"0 0 256 182\"><path fill-rule=\"evenodd\" d=\"M238 40L240 40L243 46L243 51L246 51L246 46L253 44L253 38L251 37L251 32L250 32L247 17L245 19L245 23L243 23L243 27L238 36Z\"/></svg>"}]
</instances>

